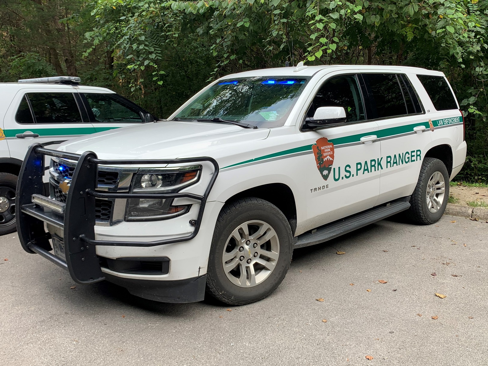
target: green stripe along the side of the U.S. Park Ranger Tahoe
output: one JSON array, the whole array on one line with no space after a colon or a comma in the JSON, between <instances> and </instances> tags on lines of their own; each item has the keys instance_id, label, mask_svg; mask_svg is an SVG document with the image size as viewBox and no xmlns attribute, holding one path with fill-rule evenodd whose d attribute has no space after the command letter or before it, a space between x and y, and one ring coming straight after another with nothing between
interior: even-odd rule
<instances>
[{"instance_id":1,"label":"green stripe along the side of the U.S. Park Ranger Tahoe","mask_svg":"<svg viewBox=\"0 0 488 366\"><path fill-rule=\"evenodd\" d=\"M441 119L441 120L434 120L434 121L432 121L432 124L434 125L434 127L439 127L439 126L445 126L445 125L448 125L448 124L461 123L461 122L463 122L463 118L461 116L459 116L459 117L444 118L444 119ZM363 134L357 134L357 135L350 135L350 136L339 137L337 139L329 140L329 142L332 142L334 144L334 146L343 145L343 144L346 144L346 143L360 142L360 140L361 140L361 138L363 136L368 136L371 133L375 133L378 136L379 139L382 139L382 138L385 138L385 137L390 137L390 136L395 136L395 135L401 135L401 134L404 134L404 133L411 133L411 132L413 132L413 127L422 126L422 125L424 127L426 127L426 128L429 128L430 127L428 122L417 122L417 123L413 123L413 124L407 124L405 126L397 126L397 127L384 128L382 130L374 131L374 132L368 132L368 133L363 133ZM258 162L260 160L271 159L271 158L275 158L275 157L278 157L278 156L283 156L283 155L289 155L289 154L294 154L294 153L298 153L298 152L308 151L308 150L311 150L311 149L312 149L312 145L305 145L305 146L295 147L293 149L283 150L283 151L279 151L279 152L276 152L276 153L273 153L273 154L268 154L268 155L260 156L259 158L254 158L254 159L246 160L244 162L235 163L235 164L232 164L232 165L227 165L227 166L224 166L222 169L230 168L230 167L236 166L236 165L242 165L242 164L247 164L247 163Z\"/></svg>"}]
</instances>

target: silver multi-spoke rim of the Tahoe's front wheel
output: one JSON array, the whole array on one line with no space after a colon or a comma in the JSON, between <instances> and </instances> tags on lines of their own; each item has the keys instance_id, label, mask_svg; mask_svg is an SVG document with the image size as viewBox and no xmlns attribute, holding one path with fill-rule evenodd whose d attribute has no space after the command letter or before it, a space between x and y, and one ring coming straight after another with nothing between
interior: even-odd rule
<instances>
[{"instance_id":1,"label":"silver multi-spoke rim of the Tahoe's front wheel","mask_svg":"<svg viewBox=\"0 0 488 366\"><path fill-rule=\"evenodd\" d=\"M240 287L262 283L273 271L280 244L276 231L263 221L248 221L229 236L222 254L227 278Z\"/></svg>"}]
</instances>

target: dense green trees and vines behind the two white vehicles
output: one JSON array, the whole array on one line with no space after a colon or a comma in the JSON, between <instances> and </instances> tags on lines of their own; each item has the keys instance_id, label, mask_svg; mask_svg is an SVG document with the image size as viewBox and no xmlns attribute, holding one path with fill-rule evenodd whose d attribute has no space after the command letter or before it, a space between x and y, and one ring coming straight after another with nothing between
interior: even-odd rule
<instances>
[{"instance_id":1,"label":"dense green trees and vines behind the two white vehicles","mask_svg":"<svg viewBox=\"0 0 488 366\"><path fill-rule=\"evenodd\" d=\"M460 179L488 182L488 0L5 1L2 60L37 53L160 117L208 81L285 61L441 70L466 116Z\"/></svg>"}]
</instances>

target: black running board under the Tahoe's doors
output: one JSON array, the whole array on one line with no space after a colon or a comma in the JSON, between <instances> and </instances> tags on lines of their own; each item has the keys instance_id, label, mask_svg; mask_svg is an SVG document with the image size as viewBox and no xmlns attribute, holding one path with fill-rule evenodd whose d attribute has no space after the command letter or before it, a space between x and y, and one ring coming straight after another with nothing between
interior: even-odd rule
<instances>
[{"instance_id":1,"label":"black running board under the Tahoe's doors","mask_svg":"<svg viewBox=\"0 0 488 366\"><path fill-rule=\"evenodd\" d=\"M304 246L326 242L366 225L386 219L387 217L405 211L408 208L410 208L410 203L408 202L392 202L386 206L380 206L366 212L361 212L344 220L318 228L317 231L313 233L308 232L299 235L297 238L298 241L293 245L293 248L303 248Z\"/></svg>"}]
</instances>

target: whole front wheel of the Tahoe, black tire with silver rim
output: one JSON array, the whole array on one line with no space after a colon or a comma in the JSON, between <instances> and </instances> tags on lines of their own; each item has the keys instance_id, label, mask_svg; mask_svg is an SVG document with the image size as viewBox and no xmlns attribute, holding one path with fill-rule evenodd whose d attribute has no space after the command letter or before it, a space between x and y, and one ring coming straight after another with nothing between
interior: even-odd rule
<instances>
[{"instance_id":1,"label":"whole front wheel of the Tahoe, black tire with silver rim","mask_svg":"<svg viewBox=\"0 0 488 366\"><path fill-rule=\"evenodd\" d=\"M285 278L291 228L275 205L243 198L222 209L208 259L206 292L229 305L264 299Z\"/></svg>"}]
</instances>

